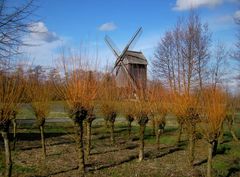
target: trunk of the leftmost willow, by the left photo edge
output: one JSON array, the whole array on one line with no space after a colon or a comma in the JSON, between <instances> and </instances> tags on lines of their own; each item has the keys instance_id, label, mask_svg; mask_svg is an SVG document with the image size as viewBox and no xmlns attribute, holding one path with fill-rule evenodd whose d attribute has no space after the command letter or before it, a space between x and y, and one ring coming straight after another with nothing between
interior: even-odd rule
<instances>
[{"instance_id":1,"label":"trunk of the leftmost willow, by the left photo edge","mask_svg":"<svg viewBox=\"0 0 240 177\"><path fill-rule=\"evenodd\" d=\"M11 149L9 142L9 125L10 122L7 121L3 125L2 137L4 140L4 148L5 148L5 176L10 177L12 175L12 157L11 157Z\"/></svg>"}]
</instances>

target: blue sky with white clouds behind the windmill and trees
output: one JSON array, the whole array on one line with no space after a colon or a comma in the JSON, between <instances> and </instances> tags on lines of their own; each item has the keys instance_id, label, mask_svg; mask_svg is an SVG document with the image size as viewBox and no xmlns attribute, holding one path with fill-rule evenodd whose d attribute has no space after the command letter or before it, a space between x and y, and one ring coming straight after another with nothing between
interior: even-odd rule
<instances>
[{"instance_id":1,"label":"blue sky with white clouds behind the windmill and trees","mask_svg":"<svg viewBox=\"0 0 240 177\"><path fill-rule=\"evenodd\" d=\"M32 28L40 33L25 36L35 45L23 50L35 64L46 66L53 64L63 46L87 48L91 57L98 54L103 65L112 63L115 58L104 36L109 35L122 49L140 26L143 34L134 49L151 58L162 34L191 8L209 24L213 43L223 41L232 48L233 19L240 18L240 0L43 0L37 5L39 21Z\"/></svg>"}]
</instances>

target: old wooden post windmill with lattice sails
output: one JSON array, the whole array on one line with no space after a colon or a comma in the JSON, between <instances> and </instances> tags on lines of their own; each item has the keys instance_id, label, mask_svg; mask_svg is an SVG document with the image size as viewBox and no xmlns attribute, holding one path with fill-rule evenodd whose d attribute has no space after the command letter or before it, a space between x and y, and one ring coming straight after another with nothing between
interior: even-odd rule
<instances>
[{"instance_id":1,"label":"old wooden post windmill with lattice sails","mask_svg":"<svg viewBox=\"0 0 240 177\"><path fill-rule=\"evenodd\" d=\"M142 33L139 28L122 52L118 50L109 36L105 36L105 42L116 56L112 73L116 74L118 87L126 87L129 84L136 92L138 89L146 88L147 81L147 59L142 52L130 50Z\"/></svg>"}]
</instances>

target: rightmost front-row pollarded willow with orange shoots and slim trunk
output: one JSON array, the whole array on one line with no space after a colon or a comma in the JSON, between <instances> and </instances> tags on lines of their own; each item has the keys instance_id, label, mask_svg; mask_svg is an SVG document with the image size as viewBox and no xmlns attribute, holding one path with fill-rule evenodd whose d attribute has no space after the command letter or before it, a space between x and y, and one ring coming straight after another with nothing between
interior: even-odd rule
<instances>
[{"instance_id":1,"label":"rightmost front-row pollarded willow with orange shoots and slim trunk","mask_svg":"<svg viewBox=\"0 0 240 177\"><path fill-rule=\"evenodd\" d=\"M208 142L207 177L212 176L212 156L215 145L222 131L222 124L226 116L226 94L214 85L204 88L200 104L200 129Z\"/></svg>"}]
</instances>

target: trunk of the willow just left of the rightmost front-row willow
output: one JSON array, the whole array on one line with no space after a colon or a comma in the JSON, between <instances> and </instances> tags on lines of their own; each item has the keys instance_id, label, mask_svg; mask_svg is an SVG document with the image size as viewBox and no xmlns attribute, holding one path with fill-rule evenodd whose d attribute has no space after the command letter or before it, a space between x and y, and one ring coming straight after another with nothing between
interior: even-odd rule
<instances>
[{"instance_id":1,"label":"trunk of the willow just left of the rightmost front-row willow","mask_svg":"<svg viewBox=\"0 0 240 177\"><path fill-rule=\"evenodd\" d=\"M190 166L193 166L193 162L195 159L194 153L195 153L195 126L190 127L189 131L189 145L188 145L188 159L189 159L189 164Z\"/></svg>"}]
</instances>

